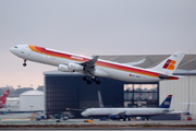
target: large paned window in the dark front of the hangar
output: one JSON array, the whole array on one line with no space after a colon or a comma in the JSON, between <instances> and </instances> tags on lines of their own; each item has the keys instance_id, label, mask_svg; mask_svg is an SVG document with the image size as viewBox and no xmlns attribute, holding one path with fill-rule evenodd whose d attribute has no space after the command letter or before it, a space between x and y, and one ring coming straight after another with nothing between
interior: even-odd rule
<instances>
[{"instance_id":1,"label":"large paned window in the dark front of the hangar","mask_svg":"<svg viewBox=\"0 0 196 131\"><path fill-rule=\"evenodd\" d=\"M157 107L158 91L158 84L124 84L124 107Z\"/></svg>"}]
</instances>

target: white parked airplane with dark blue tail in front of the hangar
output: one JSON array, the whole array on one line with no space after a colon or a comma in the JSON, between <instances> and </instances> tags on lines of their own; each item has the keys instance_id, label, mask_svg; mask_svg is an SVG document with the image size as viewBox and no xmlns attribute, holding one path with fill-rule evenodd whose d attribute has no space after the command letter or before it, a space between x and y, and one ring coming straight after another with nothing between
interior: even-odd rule
<instances>
[{"instance_id":1,"label":"white parked airplane with dark blue tail in front of the hangar","mask_svg":"<svg viewBox=\"0 0 196 131\"><path fill-rule=\"evenodd\" d=\"M157 108L88 108L82 112L84 117L108 117L109 119L123 119L124 121L131 120L131 117L146 117L147 120L151 116L162 115L173 109L170 109L170 103L172 95L162 102L162 104Z\"/></svg>"}]
</instances>

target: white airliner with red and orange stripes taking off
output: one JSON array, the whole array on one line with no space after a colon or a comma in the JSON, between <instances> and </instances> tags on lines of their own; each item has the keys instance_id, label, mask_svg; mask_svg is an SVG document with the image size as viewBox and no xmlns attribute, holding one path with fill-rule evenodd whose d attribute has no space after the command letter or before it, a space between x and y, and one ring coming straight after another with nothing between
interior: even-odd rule
<instances>
[{"instance_id":1,"label":"white airliner with red and orange stripes taking off","mask_svg":"<svg viewBox=\"0 0 196 131\"><path fill-rule=\"evenodd\" d=\"M79 55L58 51L32 45L17 45L10 48L10 51L26 61L35 61L45 64L56 66L62 72L77 72L85 74L83 78L88 84L96 82L100 84L98 76L111 78L127 82L156 82L160 80L177 80L172 75L184 57L184 52L175 52L168 59L151 69L136 68L128 64L111 62Z\"/></svg>"}]
</instances>

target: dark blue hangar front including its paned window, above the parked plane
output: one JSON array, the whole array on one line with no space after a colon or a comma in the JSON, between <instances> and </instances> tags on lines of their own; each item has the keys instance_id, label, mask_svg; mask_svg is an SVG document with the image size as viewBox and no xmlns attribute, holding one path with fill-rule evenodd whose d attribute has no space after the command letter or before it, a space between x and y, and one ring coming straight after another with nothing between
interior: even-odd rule
<instances>
[{"instance_id":1,"label":"dark blue hangar front including its paned window, above the parked plane","mask_svg":"<svg viewBox=\"0 0 196 131\"><path fill-rule=\"evenodd\" d=\"M98 107L98 91L105 107L157 107L159 86L156 83L131 83L99 78L101 84L87 84L81 74L59 71L45 72L45 112L56 115L62 111ZM73 112L81 117L81 111Z\"/></svg>"}]
</instances>

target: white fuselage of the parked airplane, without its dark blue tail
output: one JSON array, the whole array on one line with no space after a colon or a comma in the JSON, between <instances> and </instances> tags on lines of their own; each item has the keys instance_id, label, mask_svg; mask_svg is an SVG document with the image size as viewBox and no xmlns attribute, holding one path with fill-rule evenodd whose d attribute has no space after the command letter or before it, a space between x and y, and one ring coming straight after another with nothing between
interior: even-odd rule
<instances>
[{"instance_id":1,"label":"white fuselage of the parked airplane, without its dark blue tail","mask_svg":"<svg viewBox=\"0 0 196 131\"><path fill-rule=\"evenodd\" d=\"M84 117L108 117L124 112L126 117L148 117L171 111L169 108L88 108L82 112Z\"/></svg>"}]
</instances>

